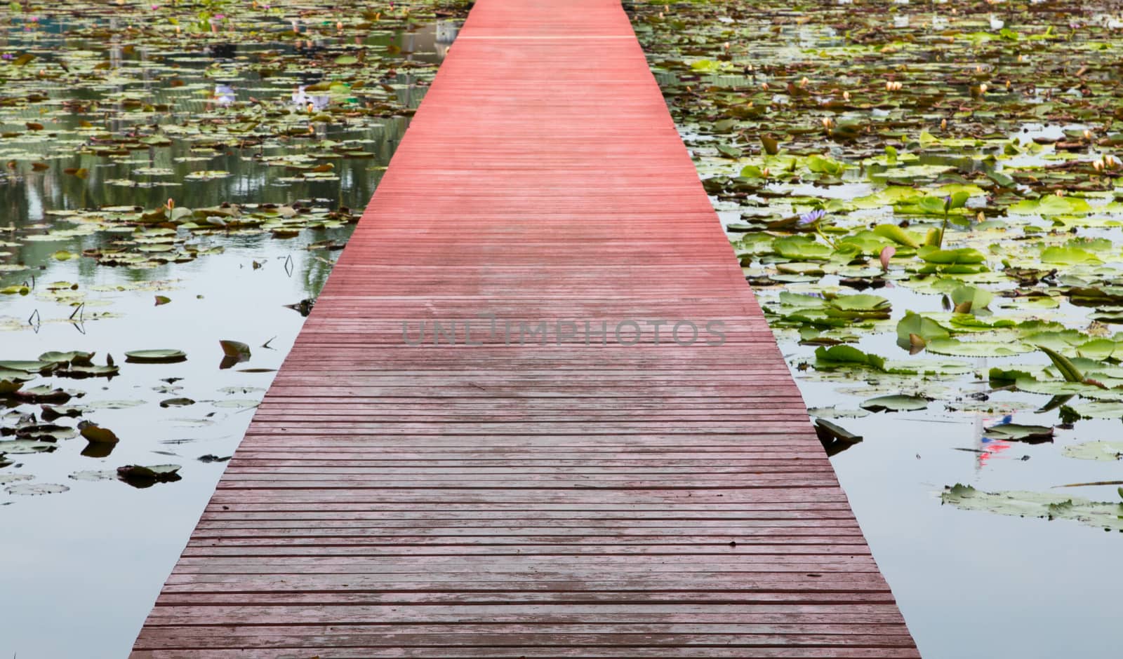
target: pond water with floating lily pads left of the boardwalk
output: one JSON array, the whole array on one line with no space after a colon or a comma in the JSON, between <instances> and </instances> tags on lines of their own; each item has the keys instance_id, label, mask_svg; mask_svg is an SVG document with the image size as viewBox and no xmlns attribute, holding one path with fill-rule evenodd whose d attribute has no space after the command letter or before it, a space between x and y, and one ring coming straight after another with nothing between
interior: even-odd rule
<instances>
[{"instance_id":1,"label":"pond water with floating lily pads left of the boardwalk","mask_svg":"<svg viewBox=\"0 0 1123 659\"><path fill-rule=\"evenodd\" d=\"M6 89L48 100L0 105L0 154L13 161L0 176L0 289L26 286L0 295L0 361L82 351L118 366L111 378L22 373L25 390L61 388L65 402L0 399L6 658L128 653L458 26L329 26L295 45L219 33L177 47L130 37L113 20L0 24L0 53L38 53L29 66L54 72L66 63L55 53L77 53L113 72L77 89L65 74ZM247 20L259 30L287 25ZM91 36L99 30L113 44ZM304 71L310 59L349 67L338 58L359 50L368 63L359 80L377 85L314 89L325 75ZM262 54L292 73L263 77ZM331 113L340 108L343 118ZM168 143L138 142L145 136ZM138 223L168 198L164 217ZM209 210L171 215L183 207ZM223 364L222 340L246 344L249 359ZM154 349L186 360L126 359ZM48 407L77 415L52 420L67 428L54 437L36 425ZM119 443L66 438L82 421ZM179 465L180 480L116 474L164 464Z\"/></svg>"}]
</instances>

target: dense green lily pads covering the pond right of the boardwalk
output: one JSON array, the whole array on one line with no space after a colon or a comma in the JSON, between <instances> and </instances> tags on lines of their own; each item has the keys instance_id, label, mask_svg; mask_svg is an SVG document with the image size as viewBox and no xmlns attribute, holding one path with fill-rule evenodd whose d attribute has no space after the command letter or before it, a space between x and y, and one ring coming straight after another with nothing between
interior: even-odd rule
<instances>
[{"instance_id":1,"label":"dense green lily pads covering the pond right of the boardwalk","mask_svg":"<svg viewBox=\"0 0 1123 659\"><path fill-rule=\"evenodd\" d=\"M984 433L1003 443L1123 418L1123 24L1056 2L631 9L798 378L867 398L809 397L828 440L878 411L1011 415ZM1030 510L953 485L953 505ZM1099 492L1116 516L1066 517L1123 531Z\"/></svg>"}]
</instances>

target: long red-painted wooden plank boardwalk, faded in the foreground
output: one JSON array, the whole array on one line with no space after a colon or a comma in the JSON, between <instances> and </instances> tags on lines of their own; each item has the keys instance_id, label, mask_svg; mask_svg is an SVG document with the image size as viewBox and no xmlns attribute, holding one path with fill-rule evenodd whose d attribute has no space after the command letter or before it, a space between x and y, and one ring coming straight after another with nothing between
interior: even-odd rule
<instances>
[{"instance_id":1,"label":"long red-painted wooden plank boardwalk, faded in the foreground","mask_svg":"<svg viewBox=\"0 0 1123 659\"><path fill-rule=\"evenodd\" d=\"M916 656L619 3L480 0L134 657Z\"/></svg>"}]
</instances>

